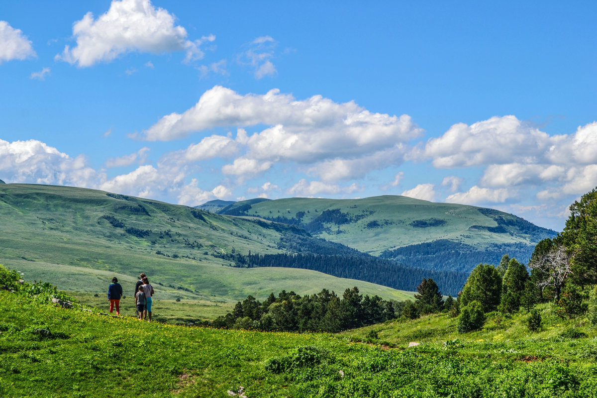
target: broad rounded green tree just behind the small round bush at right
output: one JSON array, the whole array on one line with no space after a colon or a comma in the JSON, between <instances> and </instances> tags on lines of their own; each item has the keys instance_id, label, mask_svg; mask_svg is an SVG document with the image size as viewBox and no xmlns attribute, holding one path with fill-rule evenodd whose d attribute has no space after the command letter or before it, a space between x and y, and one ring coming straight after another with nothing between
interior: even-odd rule
<instances>
[{"instance_id":1,"label":"broad rounded green tree just behind the small round bush at right","mask_svg":"<svg viewBox=\"0 0 597 398\"><path fill-rule=\"evenodd\" d=\"M479 301L484 312L493 311L500 304L501 277L494 266L479 264L471 271L462 290L460 305Z\"/></svg>"}]
</instances>

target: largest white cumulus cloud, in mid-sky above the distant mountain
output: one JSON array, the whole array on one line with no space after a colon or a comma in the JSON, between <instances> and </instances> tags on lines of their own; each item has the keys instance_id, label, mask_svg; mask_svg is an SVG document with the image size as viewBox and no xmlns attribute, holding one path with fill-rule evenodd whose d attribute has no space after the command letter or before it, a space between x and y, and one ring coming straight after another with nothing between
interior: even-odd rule
<instances>
[{"instance_id":1,"label":"largest white cumulus cloud, in mid-sky above the distant mountain","mask_svg":"<svg viewBox=\"0 0 597 398\"><path fill-rule=\"evenodd\" d=\"M244 128L255 125L268 127L248 135ZM321 162L312 172L326 181L403 162L405 143L421 133L408 115L372 113L352 101L335 103L321 95L296 100L279 90L241 95L216 86L191 109L164 116L137 138L174 140L216 127L238 128L242 153L224 166L226 174L255 174L274 162Z\"/></svg>"}]
</instances>

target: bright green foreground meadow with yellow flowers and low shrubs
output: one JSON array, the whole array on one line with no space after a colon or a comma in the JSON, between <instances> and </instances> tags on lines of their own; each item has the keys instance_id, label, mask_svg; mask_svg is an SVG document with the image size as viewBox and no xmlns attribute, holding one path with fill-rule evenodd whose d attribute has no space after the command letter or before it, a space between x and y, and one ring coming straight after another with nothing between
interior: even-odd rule
<instances>
[{"instance_id":1,"label":"bright green foreground meadow with yellow flowers and low shrubs","mask_svg":"<svg viewBox=\"0 0 597 398\"><path fill-rule=\"evenodd\" d=\"M146 323L0 291L0 396L594 397L595 331L573 338L566 331L578 320L543 314L538 334L509 332L515 316L456 341L444 340L454 337L445 315L344 335L264 333ZM407 348L411 338L423 344Z\"/></svg>"}]
</instances>

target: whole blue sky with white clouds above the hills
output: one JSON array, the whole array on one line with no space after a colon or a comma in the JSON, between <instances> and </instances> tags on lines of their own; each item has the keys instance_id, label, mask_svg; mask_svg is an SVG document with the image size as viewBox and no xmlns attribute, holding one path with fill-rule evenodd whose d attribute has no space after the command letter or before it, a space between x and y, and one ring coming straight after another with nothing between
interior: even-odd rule
<instances>
[{"instance_id":1,"label":"whole blue sky with white clouds above the hills","mask_svg":"<svg viewBox=\"0 0 597 398\"><path fill-rule=\"evenodd\" d=\"M198 205L407 195L561 230L595 2L0 2L0 179Z\"/></svg>"}]
</instances>

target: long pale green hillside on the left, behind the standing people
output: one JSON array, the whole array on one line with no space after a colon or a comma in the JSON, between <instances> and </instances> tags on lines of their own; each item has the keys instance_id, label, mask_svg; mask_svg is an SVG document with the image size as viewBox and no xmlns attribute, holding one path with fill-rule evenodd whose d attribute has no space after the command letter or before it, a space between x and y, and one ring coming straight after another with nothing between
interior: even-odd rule
<instances>
[{"instance_id":1,"label":"long pale green hillside on the left, behind the standing people","mask_svg":"<svg viewBox=\"0 0 597 398\"><path fill-rule=\"evenodd\" d=\"M411 297L308 270L239 269L213 257L279 253L282 234L295 232L303 233L250 217L98 190L0 186L0 263L23 271L27 280L51 280L70 291L104 294L111 277L117 276L126 295L143 271L165 300L229 302L248 294L263 299L282 289L310 294L355 285L386 300Z\"/></svg>"}]
</instances>

